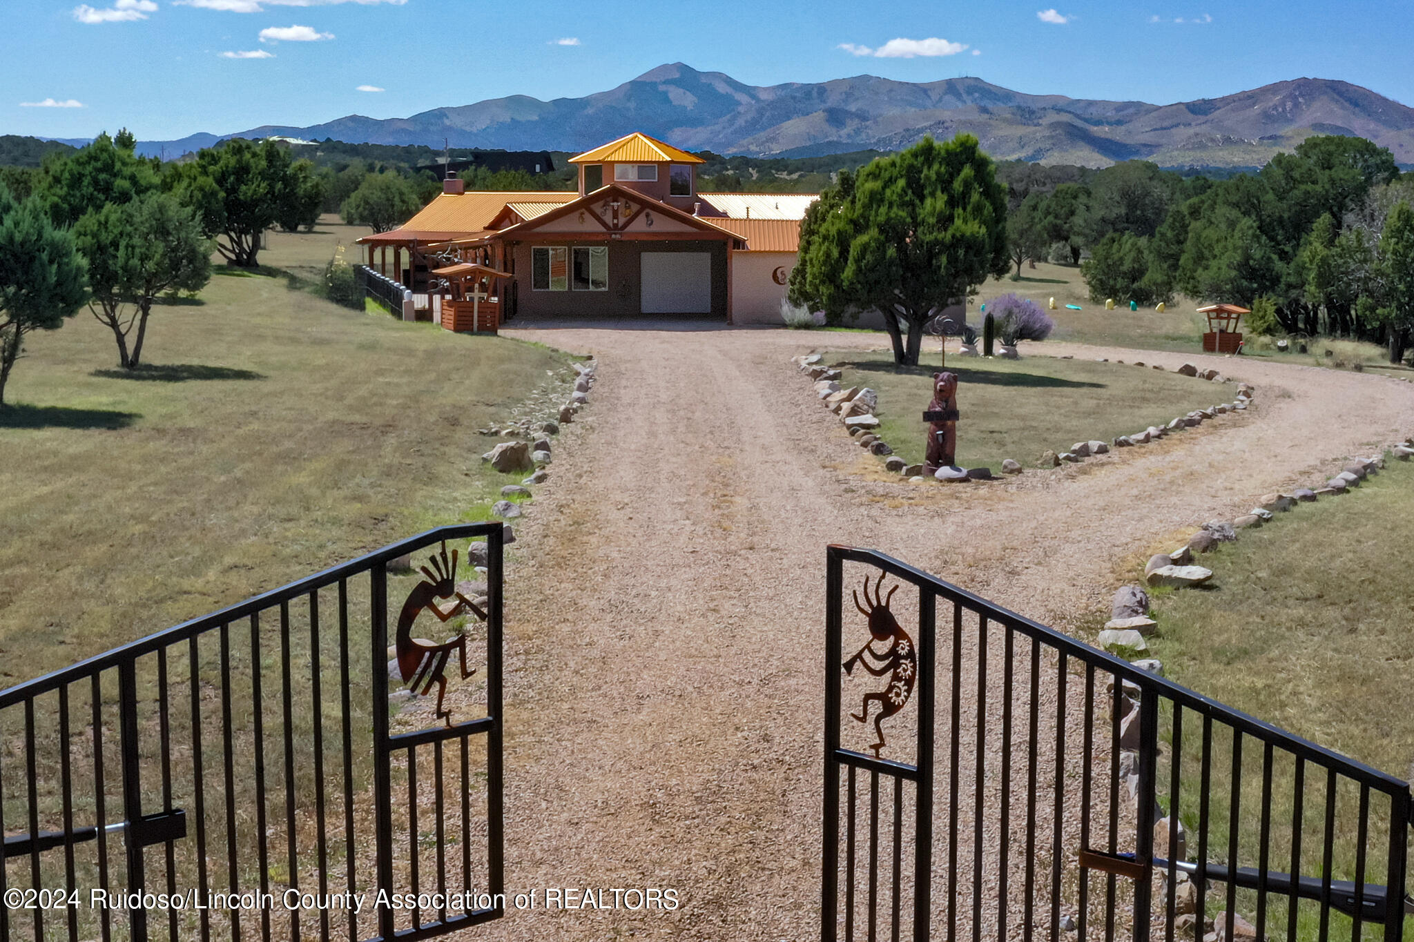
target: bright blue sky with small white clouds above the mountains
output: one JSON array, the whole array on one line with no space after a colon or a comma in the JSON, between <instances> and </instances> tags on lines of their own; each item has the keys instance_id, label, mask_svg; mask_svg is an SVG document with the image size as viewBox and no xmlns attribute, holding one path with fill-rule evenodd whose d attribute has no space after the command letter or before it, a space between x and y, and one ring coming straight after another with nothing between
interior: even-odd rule
<instances>
[{"instance_id":1,"label":"bright blue sky with small white clouds above the mountains","mask_svg":"<svg viewBox=\"0 0 1414 942\"><path fill-rule=\"evenodd\" d=\"M1052 1L11 0L0 133L404 117L585 95L674 61L751 85L976 75L1158 103L1318 76L1414 106L1408 0Z\"/></svg>"}]
</instances>

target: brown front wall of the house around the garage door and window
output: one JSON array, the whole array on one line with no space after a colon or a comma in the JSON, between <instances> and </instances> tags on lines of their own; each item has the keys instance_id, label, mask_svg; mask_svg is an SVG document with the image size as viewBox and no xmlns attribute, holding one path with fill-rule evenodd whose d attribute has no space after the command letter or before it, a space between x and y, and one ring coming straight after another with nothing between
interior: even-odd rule
<instances>
[{"instance_id":1,"label":"brown front wall of the house around the garage door and window","mask_svg":"<svg viewBox=\"0 0 1414 942\"><path fill-rule=\"evenodd\" d=\"M533 291L530 288L530 247L537 246L608 246L608 291ZM711 254L711 316L727 319L727 244L725 242L673 240L597 240L575 242L544 239L522 242L509 247L515 260L518 311L516 322L533 318L618 318L641 312L641 280L643 251L706 251ZM691 315L663 315L691 316Z\"/></svg>"}]
</instances>

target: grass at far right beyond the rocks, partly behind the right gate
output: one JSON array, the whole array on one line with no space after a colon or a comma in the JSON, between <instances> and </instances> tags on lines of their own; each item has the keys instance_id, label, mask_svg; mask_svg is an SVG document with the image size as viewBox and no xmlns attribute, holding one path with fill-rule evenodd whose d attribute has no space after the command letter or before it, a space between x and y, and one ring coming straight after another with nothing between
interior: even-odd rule
<instances>
[{"instance_id":1,"label":"grass at far right beyond the rocks, partly behind the right gate","mask_svg":"<svg viewBox=\"0 0 1414 942\"><path fill-rule=\"evenodd\" d=\"M1414 545L1406 521L1414 515L1414 467L1390 462L1380 475L1342 497L1298 504L1261 530L1246 530L1236 544L1203 556L1217 576L1205 592L1157 593L1158 637L1148 657L1164 661L1168 676L1206 696L1251 713L1284 730L1343 753L1398 778L1414 774L1414 715L1401 705L1414 669L1414 634L1408 612L1408 573ZM1185 715L1185 725L1196 717ZM1164 720L1168 722L1167 719ZM1226 853L1230 795L1230 736L1215 740L1217 813L1210 836ZM1181 812L1196 826L1196 723L1185 734L1185 787ZM1161 781L1167 773L1161 774ZM1261 753L1247 740L1241 764L1240 843L1256 853ZM1273 773L1274 821L1271 853L1290 869L1290 821L1294 770L1277 754ZM1167 791L1167 788L1164 789ZM1319 874L1325 811L1325 775L1307 767L1302 871ZM1338 789L1332 874L1355 878L1359 795ZM1373 822L1387 801L1370 802ZM1367 880L1384 883L1386 832L1370 828L1374 849ZM1189 849L1196 845L1189 837ZM1247 864L1247 860L1244 860ZM1239 911L1251 917L1253 894L1240 894ZM1212 908L1222 908L1220 904ZM1285 907L1281 918L1284 935ZM1332 917L1332 938L1348 938L1349 919ZM1316 910L1299 908L1298 938L1316 938ZM1373 938L1373 931L1366 932ZM1414 938L1414 931L1406 938Z\"/></svg>"}]
</instances>

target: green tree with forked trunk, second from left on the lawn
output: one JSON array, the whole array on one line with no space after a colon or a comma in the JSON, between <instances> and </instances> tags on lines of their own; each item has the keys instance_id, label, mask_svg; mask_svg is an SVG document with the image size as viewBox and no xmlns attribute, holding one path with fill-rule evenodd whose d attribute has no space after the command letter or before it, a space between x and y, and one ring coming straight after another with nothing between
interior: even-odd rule
<instances>
[{"instance_id":1,"label":"green tree with forked trunk, second from left on the lawn","mask_svg":"<svg viewBox=\"0 0 1414 942\"><path fill-rule=\"evenodd\" d=\"M89 311L113 332L119 366L134 370L153 302L170 291L199 291L211 280L211 242L195 212L170 193L105 206L83 216L74 236L88 258Z\"/></svg>"}]
</instances>

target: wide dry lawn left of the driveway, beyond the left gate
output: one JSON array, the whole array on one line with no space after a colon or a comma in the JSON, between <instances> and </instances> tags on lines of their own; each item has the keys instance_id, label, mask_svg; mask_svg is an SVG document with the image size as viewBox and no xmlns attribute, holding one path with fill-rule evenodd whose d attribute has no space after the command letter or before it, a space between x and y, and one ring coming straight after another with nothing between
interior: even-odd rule
<instances>
[{"instance_id":1,"label":"wide dry lawn left of the driveway, beyond the left gate","mask_svg":"<svg viewBox=\"0 0 1414 942\"><path fill-rule=\"evenodd\" d=\"M346 311L284 278L212 278L201 301L156 309L133 374L86 312L17 364L0 685L485 518L523 475L484 466L495 439L477 428L574 376L544 347Z\"/></svg>"}]
</instances>

